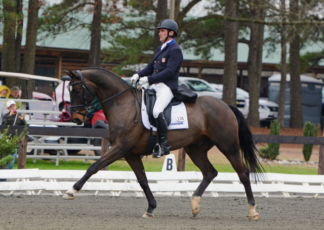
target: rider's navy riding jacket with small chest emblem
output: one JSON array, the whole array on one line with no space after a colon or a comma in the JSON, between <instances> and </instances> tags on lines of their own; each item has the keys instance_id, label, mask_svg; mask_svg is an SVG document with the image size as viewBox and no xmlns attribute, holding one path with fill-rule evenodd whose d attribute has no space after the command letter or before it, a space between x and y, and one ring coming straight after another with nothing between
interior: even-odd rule
<instances>
[{"instance_id":1,"label":"rider's navy riding jacket with small chest emblem","mask_svg":"<svg viewBox=\"0 0 324 230\"><path fill-rule=\"evenodd\" d=\"M163 82L169 88L176 89L179 86L178 78L182 61L181 48L174 40L169 42L162 51L160 45L150 63L137 74L139 77L147 76L150 85Z\"/></svg>"}]
</instances>

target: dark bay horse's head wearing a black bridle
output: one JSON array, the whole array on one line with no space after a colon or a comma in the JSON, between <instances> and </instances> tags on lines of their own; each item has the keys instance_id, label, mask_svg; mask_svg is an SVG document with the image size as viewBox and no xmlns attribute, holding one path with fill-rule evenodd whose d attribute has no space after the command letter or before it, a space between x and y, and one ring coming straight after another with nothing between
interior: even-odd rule
<instances>
[{"instance_id":1,"label":"dark bay horse's head wearing a black bridle","mask_svg":"<svg viewBox=\"0 0 324 230\"><path fill-rule=\"evenodd\" d=\"M86 119L88 108L96 97L94 83L84 77L84 71L66 72L71 78L69 82L69 92L71 99L71 120L81 125Z\"/></svg>"}]
</instances>

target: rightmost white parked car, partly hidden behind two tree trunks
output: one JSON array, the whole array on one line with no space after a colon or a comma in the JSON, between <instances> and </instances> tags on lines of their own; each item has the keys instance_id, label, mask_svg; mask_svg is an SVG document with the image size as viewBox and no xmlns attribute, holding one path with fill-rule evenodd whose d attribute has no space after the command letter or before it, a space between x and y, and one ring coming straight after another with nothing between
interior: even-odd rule
<instances>
[{"instance_id":1,"label":"rightmost white parked car, partly hidden behind two tree trunks","mask_svg":"<svg viewBox=\"0 0 324 230\"><path fill-rule=\"evenodd\" d=\"M215 87L216 90L223 92L222 84L211 84ZM246 108L247 115L249 114L249 102L250 95L249 93L241 88L236 88L236 95L242 96L246 99ZM261 121L261 125L269 125L273 119L278 117L278 104L275 102L268 101L266 99L259 99L259 118Z\"/></svg>"}]
</instances>

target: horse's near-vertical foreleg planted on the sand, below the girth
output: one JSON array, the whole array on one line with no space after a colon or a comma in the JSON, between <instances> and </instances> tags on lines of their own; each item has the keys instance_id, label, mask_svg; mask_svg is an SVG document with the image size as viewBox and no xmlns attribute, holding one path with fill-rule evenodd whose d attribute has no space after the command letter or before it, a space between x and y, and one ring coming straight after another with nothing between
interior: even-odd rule
<instances>
[{"instance_id":1,"label":"horse's near-vertical foreleg planted on the sand, below the girth","mask_svg":"<svg viewBox=\"0 0 324 230\"><path fill-rule=\"evenodd\" d=\"M146 178L144 165L141 160L141 157L139 155L136 155L136 156L125 157L125 159L126 159L127 163L133 169L133 171L136 175L136 178L137 178L141 188L143 189L143 192L144 192L146 199L148 201L148 209L142 215L142 217L153 218L154 217L153 210L156 208L156 201L153 197L153 194L152 194L150 188L148 187L148 181Z\"/></svg>"}]
</instances>

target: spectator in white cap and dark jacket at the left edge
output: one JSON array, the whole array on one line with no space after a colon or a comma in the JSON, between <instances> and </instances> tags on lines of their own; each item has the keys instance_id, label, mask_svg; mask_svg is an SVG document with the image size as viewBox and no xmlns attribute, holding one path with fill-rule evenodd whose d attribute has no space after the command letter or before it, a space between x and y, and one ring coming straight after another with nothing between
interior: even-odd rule
<instances>
[{"instance_id":1,"label":"spectator in white cap and dark jacket at the left edge","mask_svg":"<svg viewBox=\"0 0 324 230\"><path fill-rule=\"evenodd\" d=\"M2 118L2 125L27 125L24 116L16 111L16 103L13 100L7 102L7 109L9 113L6 113Z\"/></svg>"}]
</instances>

